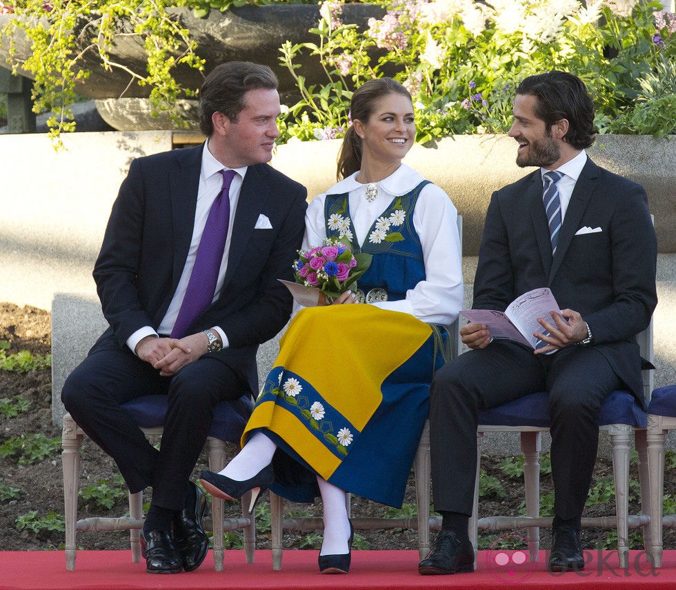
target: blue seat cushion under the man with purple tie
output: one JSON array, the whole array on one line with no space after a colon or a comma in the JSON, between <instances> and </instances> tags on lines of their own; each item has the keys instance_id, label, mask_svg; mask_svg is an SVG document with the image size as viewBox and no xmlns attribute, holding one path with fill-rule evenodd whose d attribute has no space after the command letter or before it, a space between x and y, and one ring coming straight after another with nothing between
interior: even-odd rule
<instances>
[{"instance_id":1,"label":"blue seat cushion under the man with purple tie","mask_svg":"<svg viewBox=\"0 0 676 590\"><path fill-rule=\"evenodd\" d=\"M141 396L122 404L128 409L141 428L154 428L164 425L164 416L168 408L167 396ZM237 400L219 402L214 409L209 436L239 443L246 421L251 416L253 402L251 397L241 396Z\"/></svg>"}]
</instances>

